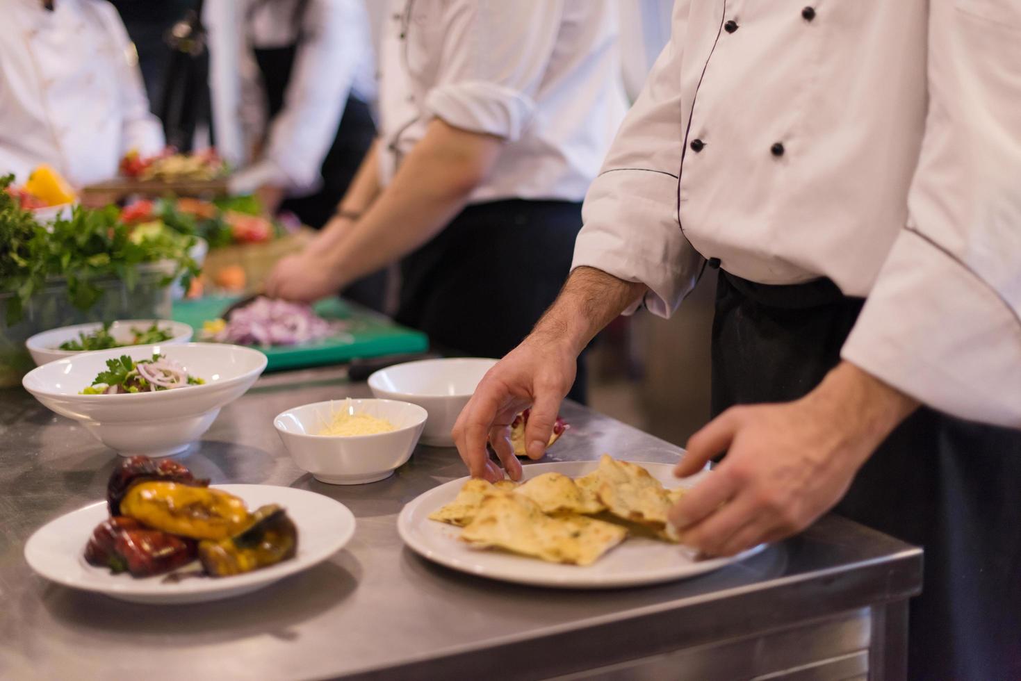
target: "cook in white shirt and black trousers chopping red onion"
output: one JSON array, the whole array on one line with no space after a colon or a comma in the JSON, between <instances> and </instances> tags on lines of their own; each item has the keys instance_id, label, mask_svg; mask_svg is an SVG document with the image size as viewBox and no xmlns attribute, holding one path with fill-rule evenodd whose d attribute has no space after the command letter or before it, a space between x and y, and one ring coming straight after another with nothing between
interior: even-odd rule
<instances>
[{"instance_id":1,"label":"cook in white shirt and black trousers chopping red onion","mask_svg":"<svg viewBox=\"0 0 1021 681\"><path fill-rule=\"evenodd\" d=\"M343 214L277 266L268 291L322 297L403 257L396 319L499 356L563 285L580 201L623 116L617 6L389 6L380 138Z\"/></svg>"}]
</instances>

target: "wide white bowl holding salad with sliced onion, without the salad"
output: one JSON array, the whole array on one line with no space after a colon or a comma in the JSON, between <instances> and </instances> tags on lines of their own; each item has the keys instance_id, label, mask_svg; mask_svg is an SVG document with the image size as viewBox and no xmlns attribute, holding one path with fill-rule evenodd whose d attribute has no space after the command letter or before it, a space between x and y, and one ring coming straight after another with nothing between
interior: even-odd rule
<instances>
[{"instance_id":1,"label":"wide white bowl holding salad with sliced onion, without the salad","mask_svg":"<svg viewBox=\"0 0 1021 681\"><path fill-rule=\"evenodd\" d=\"M80 395L106 360L154 352L181 362L204 385L118 395ZM37 367L21 380L25 389L60 416L74 419L123 456L168 456L197 440L220 409L244 394L265 369L258 350L222 343L137 345L82 352Z\"/></svg>"}]
</instances>

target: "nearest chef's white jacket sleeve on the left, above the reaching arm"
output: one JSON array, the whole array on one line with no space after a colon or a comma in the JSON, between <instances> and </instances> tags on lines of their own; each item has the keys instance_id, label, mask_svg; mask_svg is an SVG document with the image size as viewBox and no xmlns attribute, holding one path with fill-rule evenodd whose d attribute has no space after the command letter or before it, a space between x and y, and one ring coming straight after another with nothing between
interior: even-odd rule
<instances>
[{"instance_id":1,"label":"nearest chef's white jacket sleeve on the left, above the reaching arm","mask_svg":"<svg viewBox=\"0 0 1021 681\"><path fill-rule=\"evenodd\" d=\"M688 243L677 215L681 130L681 46L674 36L628 112L602 172L588 190L584 227L575 242L572 269L601 270L648 287L644 304L670 317L697 282L704 261ZM626 313L633 312L636 303Z\"/></svg>"}]
</instances>

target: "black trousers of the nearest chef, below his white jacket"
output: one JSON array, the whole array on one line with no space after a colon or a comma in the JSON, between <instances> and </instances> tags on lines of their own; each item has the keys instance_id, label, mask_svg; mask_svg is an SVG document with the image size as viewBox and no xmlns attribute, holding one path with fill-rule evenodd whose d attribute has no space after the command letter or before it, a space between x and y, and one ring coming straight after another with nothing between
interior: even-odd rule
<instances>
[{"instance_id":1,"label":"black trousers of the nearest chef, below his white jacket","mask_svg":"<svg viewBox=\"0 0 1021 681\"><path fill-rule=\"evenodd\" d=\"M839 361L862 304L828 280L763 286L721 273L714 414L812 390ZM910 678L1021 679L1021 431L923 407L865 464L836 512L925 549Z\"/></svg>"}]
</instances>

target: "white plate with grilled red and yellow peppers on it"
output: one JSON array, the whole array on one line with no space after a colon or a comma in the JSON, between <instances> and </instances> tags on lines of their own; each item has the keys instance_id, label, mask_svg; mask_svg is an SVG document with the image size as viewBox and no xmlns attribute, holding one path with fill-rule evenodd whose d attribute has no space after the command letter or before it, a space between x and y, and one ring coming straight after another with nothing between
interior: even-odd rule
<instances>
[{"instance_id":1,"label":"white plate with grilled red and yellow peppers on it","mask_svg":"<svg viewBox=\"0 0 1021 681\"><path fill-rule=\"evenodd\" d=\"M132 456L106 500L65 514L25 545L39 575L144 603L241 595L326 561L354 516L322 494L273 485L209 485L169 458Z\"/></svg>"}]
</instances>

